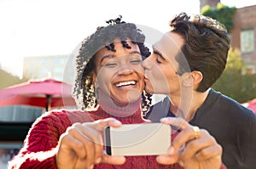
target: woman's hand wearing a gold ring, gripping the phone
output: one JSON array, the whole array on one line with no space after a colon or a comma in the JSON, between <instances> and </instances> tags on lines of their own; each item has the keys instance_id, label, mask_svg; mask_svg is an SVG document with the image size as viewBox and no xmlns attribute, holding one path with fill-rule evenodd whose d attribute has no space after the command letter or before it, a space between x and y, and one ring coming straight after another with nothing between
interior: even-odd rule
<instances>
[{"instance_id":1,"label":"woman's hand wearing a gold ring, gripping the phone","mask_svg":"<svg viewBox=\"0 0 256 169\"><path fill-rule=\"evenodd\" d=\"M165 124L178 127L180 132L172 140L167 155L159 155L160 164L179 163L185 169L219 169L221 166L222 147L205 129L191 126L177 117L161 119Z\"/></svg>"}]
</instances>

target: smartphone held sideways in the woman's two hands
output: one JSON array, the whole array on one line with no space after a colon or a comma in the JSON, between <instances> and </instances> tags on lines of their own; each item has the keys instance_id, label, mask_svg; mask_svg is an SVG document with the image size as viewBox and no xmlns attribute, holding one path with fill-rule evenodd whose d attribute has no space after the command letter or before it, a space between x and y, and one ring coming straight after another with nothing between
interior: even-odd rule
<instances>
[{"instance_id":1,"label":"smartphone held sideways in the woman's two hands","mask_svg":"<svg viewBox=\"0 0 256 169\"><path fill-rule=\"evenodd\" d=\"M171 126L163 123L123 124L106 127L108 155L164 155L171 146Z\"/></svg>"}]
</instances>

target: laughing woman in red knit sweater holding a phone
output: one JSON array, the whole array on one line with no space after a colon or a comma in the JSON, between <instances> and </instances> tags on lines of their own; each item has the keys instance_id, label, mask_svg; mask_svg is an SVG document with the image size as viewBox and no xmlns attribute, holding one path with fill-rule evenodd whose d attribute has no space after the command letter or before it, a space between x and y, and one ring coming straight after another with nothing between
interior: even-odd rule
<instances>
[{"instance_id":1,"label":"laughing woman in red knit sweater holding a phone","mask_svg":"<svg viewBox=\"0 0 256 169\"><path fill-rule=\"evenodd\" d=\"M212 148L217 150L210 150L207 158L200 153L197 157L189 156L186 149L184 155L174 155L173 148L168 155L158 157L104 153L101 135L104 128L148 122L143 119L142 112L147 112L150 104L149 95L143 92L142 57L149 54L143 45L145 37L136 25L121 22L120 18L108 23L85 39L76 58L73 94L82 110L53 110L35 121L24 147L9 163L9 168L182 168L172 164L182 164L179 156L184 155L191 161L191 168L200 167L201 161L219 168L221 147L207 132L194 132L181 119L176 120L177 125L183 124L173 141L177 147L191 140L200 143L203 139L204 148L196 145L190 148L206 149L205 152ZM173 123L172 119L168 120L165 123Z\"/></svg>"}]
</instances>

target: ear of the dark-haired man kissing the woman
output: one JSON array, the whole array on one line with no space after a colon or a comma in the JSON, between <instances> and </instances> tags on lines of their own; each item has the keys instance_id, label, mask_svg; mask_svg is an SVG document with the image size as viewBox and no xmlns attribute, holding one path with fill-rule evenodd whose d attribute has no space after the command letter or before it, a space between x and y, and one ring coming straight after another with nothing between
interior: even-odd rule
<instances>
[{"instance_id":1,"label":"ear of the dark-haired man kissing the woman","mask_svg":"<svg viewBox=\"0 0 256 169\"><path fill-rule=\"evenodd\" d=\"M183 73L183 86L197 86L201 82L202 78L203 76L201 71L185 72Z\"/></svg>"}]
</instances>

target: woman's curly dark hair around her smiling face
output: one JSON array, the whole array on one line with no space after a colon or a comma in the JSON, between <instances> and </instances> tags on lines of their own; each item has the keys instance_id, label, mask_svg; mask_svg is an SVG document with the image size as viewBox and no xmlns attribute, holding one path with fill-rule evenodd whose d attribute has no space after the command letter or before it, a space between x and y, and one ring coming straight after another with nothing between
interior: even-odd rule
<instances>
[{"instance_id":1,"label":"woman's curly dark hair around her smiling face","mask_svg":"<svg viewBox=\"0 0 256 169\"><path fill-rule=\"evenodd\" d=\"M115 51L113 40L117 37L123 43L123 47L131 48L126 42L129 38L132 43L137 44L143 58L150 54L149 49L144 46L145 36L132 23L121 21L121 16L115 20L108 20L107 26L100 26L96 32L84 39L79 55L76 57L76 77L73 87L73 97L81 110L95 108L97 105L96 90L92 80L92 72L96 68L96 52L102 47ZM151 94L143 91L142 110L145 115L151 104Z\"/></svg>"}]
</instances>

